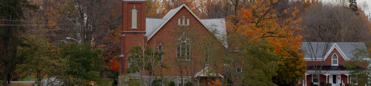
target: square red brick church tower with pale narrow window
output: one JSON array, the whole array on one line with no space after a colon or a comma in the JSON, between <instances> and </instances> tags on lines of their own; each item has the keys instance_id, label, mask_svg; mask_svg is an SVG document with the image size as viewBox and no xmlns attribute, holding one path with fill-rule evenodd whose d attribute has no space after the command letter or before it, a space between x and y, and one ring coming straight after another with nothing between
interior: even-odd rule
<instances>
[{"instance_id":1,"label":"square red brick church tower with pale narrow window","mask_svg":"<svg viewBox=\"0 0 371 86\"><path fill-rule=\"evenodd\" d=\"M133 45L143 45L147 42L145 36L145 1L122 1L122 32L120 45L119 75L125 74L128 68L129 49Z\"/></svg>"}]
</instances>

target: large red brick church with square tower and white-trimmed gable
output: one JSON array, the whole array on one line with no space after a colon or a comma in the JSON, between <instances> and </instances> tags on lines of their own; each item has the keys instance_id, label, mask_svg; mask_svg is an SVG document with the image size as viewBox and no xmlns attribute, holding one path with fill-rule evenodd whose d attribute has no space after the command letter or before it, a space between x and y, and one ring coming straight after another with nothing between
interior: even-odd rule
<instances>
[{"instance_id":1,"label":"large red brick church with square tower and white-trimmed gable","mask_svg":"<svg viewBox=\"0 0 371 86\"><path fill-rule=\"evenodd\" d=\"M167 70L158 70L162 76L170 81L175 82L175 86L181 85L181 79L183 82L190 80L202 83L207 80L205 78L215 79L223 78L219 73L210 73L212 68L209 65L197 64L197 61L205 60L209 58L218 59L218 57L207 57L206 52L198 51L199 49L190 49L191 45L189 42L202 41L207 35L214 36L213 40L218 40L214 44L217 44L220 48L226 48L226 42L219 41L220 37L226 35L226 21L224 18L216 19L200 19L198 18L186 5L181 5L177 8L171 9L162 18L146 18L146 0L123 0L122 1L122 35L121 35L121 55L120 55L120 67L119 67L119 85L122 85L125 70L128 69L130 63L128 61L129 49L133 45L144 45L153 46L158 51L166 52L165 55L161 56L161 60L164 64L170 66ZM177 28L187 29L190 31L196 31L197 39L188 38L187 35L177 33ZM217 30L219 34L213 34L212 31ZM179 38L175 38L175 35L180 35ZM176 43L174 43L176 42ZM177 44L179 43L179 44ZM183 45L185 44L185 45ZM201 48L200 48L201 49ZM199 53L205 55L198 55L196 59L189 59L190 53ZM179 58L180 56L188 56L187 58ZM198 59L199 58L199 59ZM195 63L196 66L183 74L184 78L180 77L179 68L173 63L173 61L185 61ZM238 68L237 68L238 69ZM242 71L242 68L239 67ZM185 72L184 72L185 73ZM161 82L162 80L159 80Z\"/></svg>"}]
</instances>

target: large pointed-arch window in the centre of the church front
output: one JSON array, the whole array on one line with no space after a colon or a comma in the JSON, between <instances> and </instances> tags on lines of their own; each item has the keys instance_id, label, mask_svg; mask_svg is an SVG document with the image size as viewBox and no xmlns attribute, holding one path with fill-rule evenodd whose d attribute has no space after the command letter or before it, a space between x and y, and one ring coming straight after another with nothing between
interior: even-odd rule
<instances>
[{"instance_id":1,"label":"large pointed-arch window in the centre of the church front","mask_svg":"<svg viewBox=\"0 0 371 86\"><path fill-rule=\"evenodd\" d=\"M178 60L190 60L191 45L188 37L179 37L177 40L177 59Z\"/></svg>"}]
</instances>

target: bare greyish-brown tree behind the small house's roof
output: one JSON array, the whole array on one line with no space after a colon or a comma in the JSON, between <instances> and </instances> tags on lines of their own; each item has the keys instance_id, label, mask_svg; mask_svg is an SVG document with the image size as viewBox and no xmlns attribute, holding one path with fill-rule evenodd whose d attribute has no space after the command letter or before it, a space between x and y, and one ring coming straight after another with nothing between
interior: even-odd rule
<instances>
[{"instance_id":1,"label":"bare greyish-brown tree behind the small house's roof","mask_svg":"<svg viewBox=\"0 0 371 86\"><path fill-rule=\"evenodd\" d=\"M363 15L363 16L362 16ZM303 39L317 42L355 42L370 40L370 21L341 4L312 4L302 15ZM321 22L318 22L321 21ZM352 36L349 36L352 35Z\"/></svg>"}]
</instances>

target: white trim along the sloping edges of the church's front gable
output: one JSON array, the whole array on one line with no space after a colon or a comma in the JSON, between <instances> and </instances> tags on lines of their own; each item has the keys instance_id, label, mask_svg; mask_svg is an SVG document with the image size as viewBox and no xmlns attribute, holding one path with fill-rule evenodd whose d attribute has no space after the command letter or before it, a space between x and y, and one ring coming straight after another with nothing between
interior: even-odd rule
<instances>
[{"instance_id":1,"label":"white trim along the sloping edges of the church's front gable","mask_svg":"<svg viewBox=\"0 0 371 86\"><path fill-rule=\"evenodd\" d=\"M150 40L152 37L153 37L153 35L155 35L156 33L157 33L157 31L158 30L160 30L160 28L162 28L171 18L173 18L173 16L175 15L175 14L177 14L178 13L178 11L182 8L182 7L185 7L185 8L187 8L187 10L189 11L189 12L191 12L192 13L192 15L194 16L194 17L196 17L197 18L197 20L204 26L204 27L206 27L206 29L210 32L210 30L209 30L209 28L207 28L207 26L204 24L204 23L202 23L201 22L201 20L200 20L200 18L198 18L197 16L196 16L196 14L194 14L189 8L188 8L188 6L186 6L185 4L182 4L181 6L179 6L180 8L178 8L178 9L176 9L176 11L175 11L175 13L174 14L172 14L171 16L170 16L170 18L167 18L166 20L165 20L165 22L164 23L162 23L161 25L160 25L160 27L158 27L157 29L155 29L155 31L154 32L152 32L152 34L150 34L150 35L148 35L148 38L147 38L147 41L148 40Z\"/></svg>"}]
</instances>

